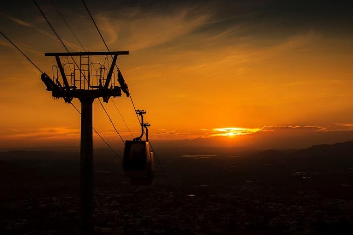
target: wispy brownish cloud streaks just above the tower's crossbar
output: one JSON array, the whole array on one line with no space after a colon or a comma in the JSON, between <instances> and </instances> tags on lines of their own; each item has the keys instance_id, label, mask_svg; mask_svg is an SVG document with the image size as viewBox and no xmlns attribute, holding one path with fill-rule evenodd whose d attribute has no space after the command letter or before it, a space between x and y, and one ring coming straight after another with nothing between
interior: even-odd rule
<instances>
[{"instance_id":1,"label":"wispy brownish cloud streaks just above the tower's crossbar","mask_svg":"<svg viewBox=\"0 0 353 235\"><path fill-rule=\"evenodd\" d=\"M119 48L129 47L130 51L150 48L185 36L207 20L206 15L187 18L186 9L167 16L146 14L135 9L127 11L131 14L125 13L126 18L101 13L97 20L109 44L115 42Z\"/></svg>"}]
</instances>

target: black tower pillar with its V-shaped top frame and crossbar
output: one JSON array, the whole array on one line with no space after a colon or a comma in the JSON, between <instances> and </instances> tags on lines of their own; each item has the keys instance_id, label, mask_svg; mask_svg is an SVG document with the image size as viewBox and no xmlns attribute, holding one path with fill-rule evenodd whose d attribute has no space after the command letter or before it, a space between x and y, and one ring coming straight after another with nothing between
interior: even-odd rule
<instances>
[{"instance_id":1,"label":"black tower pillar with its V-shaped top frame and crossbar","mask_svg":"<svg viewBox=\"0 0 353 235\"><path fill-rule=\"evenodd\" d=\"M45 53L45 56L55 57L58 68L60 69L61 78L64 86L58 81L51 79L46 73L41 75L41 79L47 87L47 91L52 92L54 98L64 98L66 103L71 103L73 98L77 98L81 102L81 141L80 141L80 234L90 235L93 234L94 229L94 194L93 194L93 101L96 98L103 98L104 102L108 102L110 97L120 97L121 91L129 96L129 89L121 72L118 69L118 79L120 86L115 86L113 83L113 70L117 57L119 55L128 55L129 51L110 51L110 52L69 52L69 53ZM95 55L109 55L113 56L109 73L105 79L104 84L92 85L90 82L90 60L88 60L88 78L85 77L84 73L80 72L87 81L87 87L83 86L83 89L78 88L74 82L69 84L67 75L65 74L64 67L60 60L60 56L71 57L72 56L95 56ZM72 58L72 60L74 60ZM76 63L75 63L76 64ZM96 63L97 64L97 63ZM77 64L76 64L77 65ZM116 66L117 67L117 66ZM81 71L82 68L80 67ZM68 75L72 76L72 75ZM75 76L75 73L73 74ZM81 81L81 80L80 80ZM84 82L85 82L84 81ZM81 84L81 83L80 83Z\"/></svg>"}]
</instances>

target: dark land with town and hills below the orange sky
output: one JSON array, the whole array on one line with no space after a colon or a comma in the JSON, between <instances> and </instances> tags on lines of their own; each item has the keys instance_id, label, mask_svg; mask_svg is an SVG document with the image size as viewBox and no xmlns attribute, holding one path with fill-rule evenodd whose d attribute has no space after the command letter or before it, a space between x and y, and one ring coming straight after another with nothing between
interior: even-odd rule
<instances>
[{"instance_id":1,"label":"dark land with town and hills below the orange sky","mask_svg":"<svg viewBox=\"0 0 353 235\"><path fill-rule=\"evenodd\" d=\"M135 187L96 151L96 234L353 234L353 142L172 152L159 152L170 186L158 167ZM78 172L78 153L0 153L0 234L77 234Z\"/></svg>"}]
</instances>

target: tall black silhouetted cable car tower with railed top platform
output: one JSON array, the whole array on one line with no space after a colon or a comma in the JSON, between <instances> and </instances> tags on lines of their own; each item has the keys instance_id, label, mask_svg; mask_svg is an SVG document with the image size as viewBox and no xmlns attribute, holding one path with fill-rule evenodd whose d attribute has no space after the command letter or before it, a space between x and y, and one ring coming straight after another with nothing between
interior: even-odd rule
<instances>
[{"instance_id":1,"label":"tall black silhouetted cable car tower with railed top platform","mask_svg":"<svg viewBox=\"0 0 353 235\"><path fill-rule=\"evenodd\" d=\"M52 79L46 73L41 75L47 87L46 90L51 91L54 98L63 98L66 103L71 103L73 98L81 102L80 226L82 234L91 234L94 226L92 104L94 99L100 97L107 103L110 97L120 97L121 91L129 96L128 86L119 69L117 76L114 73L117 56L128 54L128 51L45 53L45 56L55 57L57 62L57 66L52 67ZM79 57L79 64L75 62L73 56ZM112 56L110 68L105 68L100 63L93 63L91 56ZM65 57L63 63L61 57ZM71 57L74 63L69 63L69 60L64 63L67 57ZM115 77L119 86L115 84Z\"/></svg>"}]
</instances>

